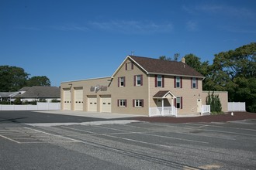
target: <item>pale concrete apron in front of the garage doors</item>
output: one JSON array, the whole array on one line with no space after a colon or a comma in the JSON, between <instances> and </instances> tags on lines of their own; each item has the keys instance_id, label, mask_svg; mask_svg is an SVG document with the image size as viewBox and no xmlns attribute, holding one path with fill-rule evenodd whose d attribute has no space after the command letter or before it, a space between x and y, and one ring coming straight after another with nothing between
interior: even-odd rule
<instances>
[{"instance_id":1,"label":"pale concrete apron in front of the garage doors","mask_svg":"<svg viewBox=\"0 0 256 170\"><path fill-rule=\"evenodd\" d=\"M125 118L125 117L147 117L145 115L137 114L112 114L112 113L99 113L99 112L87 112L87 111L73 111L73 110L41 110L35 111L38 113L46 114L62 114L70 116L80 116L80 117L95 117L102 119L115 119L115 118Z\"/></svg>"}]
</instances>

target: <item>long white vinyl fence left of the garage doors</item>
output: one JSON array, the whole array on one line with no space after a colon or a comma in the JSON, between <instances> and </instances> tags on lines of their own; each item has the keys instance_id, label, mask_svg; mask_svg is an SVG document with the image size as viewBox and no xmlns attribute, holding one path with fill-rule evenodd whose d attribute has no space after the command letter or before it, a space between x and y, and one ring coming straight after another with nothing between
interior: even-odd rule
<instances>
[{"instance_id":1,"label":"long white vinyl fence left of the garage doors","mask_svg":"<svg viewBox=\"0 0 256 170\"><path fill-rule=\"evenodd\" d=\"M37 102L36 105L0 104L0 110L61 110L61 103Z\"/></svg>"}]
</instances>

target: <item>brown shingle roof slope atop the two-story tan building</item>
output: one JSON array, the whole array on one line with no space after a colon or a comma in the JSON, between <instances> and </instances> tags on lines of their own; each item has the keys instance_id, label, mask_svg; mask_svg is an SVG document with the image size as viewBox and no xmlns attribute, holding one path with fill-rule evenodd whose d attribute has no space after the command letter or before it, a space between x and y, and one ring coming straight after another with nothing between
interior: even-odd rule
<instances>
[{"instance_id":1,"label":"brown shingle roof slope atop the two-story tan building","mask_svg":"<svg viewBox=\"0 0 256 170\"><path fill-rule=\"evenodd\" d=\"M152 59L144 56L130 56L130 58L146 70L147 73L204 77L191 66L182 62Z\"/></svg>"}]
</instances>

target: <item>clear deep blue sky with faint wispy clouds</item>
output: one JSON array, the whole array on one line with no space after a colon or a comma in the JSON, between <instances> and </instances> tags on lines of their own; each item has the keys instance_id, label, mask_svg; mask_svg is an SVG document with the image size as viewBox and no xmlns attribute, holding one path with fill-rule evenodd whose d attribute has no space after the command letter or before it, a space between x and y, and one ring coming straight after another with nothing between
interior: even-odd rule
<instances>
[{"instance_id":1,"label":"clear deep blue sky with faint wispy clouds","mask_svg":"<svg viewBox=\"0 0 256 170\"><path fill-rule=\"evenodd\" d=\"M0 0L0 65L52 86L111 76L132 51L211 63L255 38L254 0Z\"/></svg>"}]
</instances>

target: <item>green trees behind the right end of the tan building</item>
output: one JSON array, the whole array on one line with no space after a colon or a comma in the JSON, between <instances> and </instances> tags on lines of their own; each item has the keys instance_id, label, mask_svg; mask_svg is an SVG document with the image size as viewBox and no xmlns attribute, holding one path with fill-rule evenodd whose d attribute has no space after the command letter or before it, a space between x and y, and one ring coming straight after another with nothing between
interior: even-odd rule
<instances>
[{"instance_id":1,"label":"green trees behind the right end of the tan building","mask_svg":"<svg viewBox=\"0 0 256 170\"><path fill-rule=\"evenodd\" d=\"M246 102L247 111L256 112L256 42L214 55L213 64L194 54L185 63L205 76L202 90L228 91L230 102ZM160 59L176 60L166 56Z\"/></svg>"}]
</instances>

